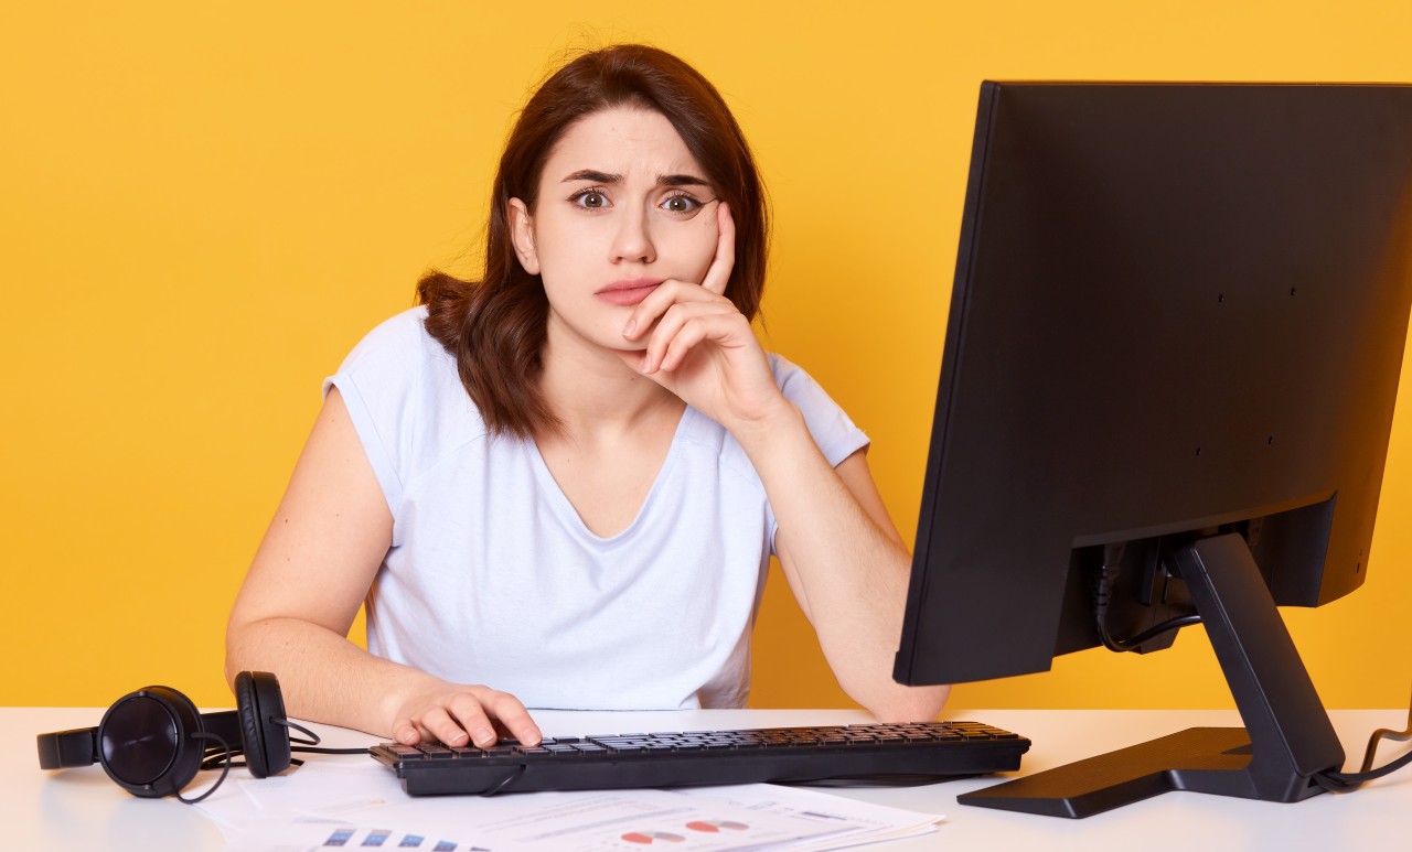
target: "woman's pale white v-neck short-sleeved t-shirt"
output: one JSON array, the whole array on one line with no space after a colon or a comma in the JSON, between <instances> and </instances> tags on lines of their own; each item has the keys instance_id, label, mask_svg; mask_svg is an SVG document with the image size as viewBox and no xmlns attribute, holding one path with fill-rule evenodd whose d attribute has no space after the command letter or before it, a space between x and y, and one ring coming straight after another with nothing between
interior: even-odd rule
<instances>
[{"instance_id":1,"label":"woman's pale white v-neck short-sleeved t-shirt","mask_svg":"<svg viewBox=\"0 0 1412 852\"><path fill-rule=\"evenodd\" d=\"M686 408L637 518L600 537L532 440L491 437L415 308L374 329L337 387L393 512L369 650L527 707L743 707L775 519L744 450ZM839 464L868 439L770 357Z\"/></svg>"}]
</instances>

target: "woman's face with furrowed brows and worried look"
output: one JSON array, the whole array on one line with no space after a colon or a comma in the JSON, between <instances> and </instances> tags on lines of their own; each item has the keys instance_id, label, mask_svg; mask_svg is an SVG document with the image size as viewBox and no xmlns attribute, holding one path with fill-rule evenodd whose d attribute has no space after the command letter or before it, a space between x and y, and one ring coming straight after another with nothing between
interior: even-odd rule
<instances>
[{"instance_id":1,"label":"woman's face with furrowed brows and worried look","mask_svg":"<svg viewBox=\"0 0 1412 852\"><path fill-rule=\"evenodd\" d=\"M716 254L716 192L661 113L614 107L575 123L551 151L535 209L510 202L520 262L549 298L549 341L607 348L665 279L700 284Z\"/></svg>"}]
</instances>

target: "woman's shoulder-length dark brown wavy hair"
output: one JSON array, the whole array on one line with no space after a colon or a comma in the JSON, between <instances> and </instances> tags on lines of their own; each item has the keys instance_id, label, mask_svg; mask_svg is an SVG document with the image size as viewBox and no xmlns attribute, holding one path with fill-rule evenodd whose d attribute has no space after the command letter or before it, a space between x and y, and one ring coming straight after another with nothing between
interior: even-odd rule
<instances>
[{"instance_id":1,"label":"woman's shoulder-length dark brown wavy hair","mask_svg":"<svg viewBox=\"0 0 1412 852\"><path fill-rule=\"evenodd\" d=\"M724 99L696 69L645 45L585 54L551 75L515 121L496 172L481 281L432 271L418 282L426 330L455 355L466 392L491 434L530 439L559 427L539 389L549 302L515 257L510 199L535 209L539 176L573 123L617 106L651 109L682 137L736 221L736 265L726 285L755 319L765 284L768 209L746 137Z\"/></svg>"}]
</instances>

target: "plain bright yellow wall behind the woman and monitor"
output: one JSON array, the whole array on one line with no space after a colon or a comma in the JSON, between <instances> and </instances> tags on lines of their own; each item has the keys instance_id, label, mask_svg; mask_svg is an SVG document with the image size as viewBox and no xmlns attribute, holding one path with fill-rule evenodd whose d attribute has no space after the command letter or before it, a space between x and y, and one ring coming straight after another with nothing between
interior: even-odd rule
<instances>
[{"instance_id":1,"label":"plain bright yellow wall behind the woman and monitor","mask_svg":"<svg viewBox=\"0 0 1412 852\"><path fill-rule=\"evenodd\" d=\"M474 269L514 110L642 39L723 90L774 199L768 344L874 439L916 525L981 79L1412 80L1405 0L7 3L0 704L230 704L230 601L359 337ZM1408 695L1404 371L1364 590L1286 611L1330 707ZM753 701L847 705L778 576ZM1228 707L1199 631L955 707Z\"/></svg>"}]
</instances>

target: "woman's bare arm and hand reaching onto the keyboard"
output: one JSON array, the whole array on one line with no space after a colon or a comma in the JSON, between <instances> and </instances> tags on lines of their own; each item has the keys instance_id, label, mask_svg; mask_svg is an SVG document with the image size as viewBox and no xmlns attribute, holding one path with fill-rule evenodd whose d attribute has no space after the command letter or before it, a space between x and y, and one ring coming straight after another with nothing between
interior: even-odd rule
<instances>
[{"instance_id":1,"label":"woman's bare arm and hand reaching onto the keyboard","mask_svg":"<svg viewBox=\"0 0 1412 852\"><path fill-rule=\"evenodd\" d=\"M292 715L401 742L484 743L497 726L538 742L513 695L450 684L347 640L391 540L387 501L332 389L236 598L226 678L274 671Z\"/></svg>"}]
</instances>

